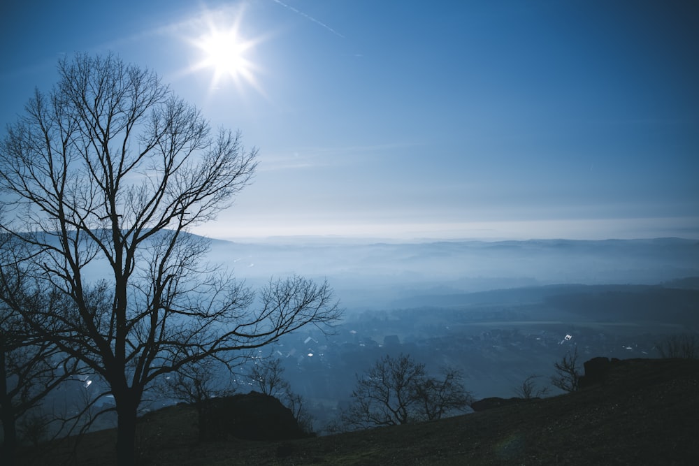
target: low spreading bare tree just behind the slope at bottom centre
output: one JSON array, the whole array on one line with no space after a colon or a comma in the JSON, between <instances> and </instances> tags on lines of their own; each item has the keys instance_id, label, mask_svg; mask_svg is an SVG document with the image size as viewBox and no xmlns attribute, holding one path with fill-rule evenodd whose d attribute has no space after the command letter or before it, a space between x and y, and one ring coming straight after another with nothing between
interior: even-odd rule
<instances>
[{"instance_id":1,"label":"low spreading bare tree just behind the slope at bottom centre","mask_svg":"<svg viewBox=\"0 0 699 466\"><path fill-rule=\"evenodd\" d=\"M357 376L352 405L341 420L349 428L368 428L439 419L465 409L470 401L458 371L447 369L437 379L410 356L384 356Z\"/></svg>"}]
</instances>

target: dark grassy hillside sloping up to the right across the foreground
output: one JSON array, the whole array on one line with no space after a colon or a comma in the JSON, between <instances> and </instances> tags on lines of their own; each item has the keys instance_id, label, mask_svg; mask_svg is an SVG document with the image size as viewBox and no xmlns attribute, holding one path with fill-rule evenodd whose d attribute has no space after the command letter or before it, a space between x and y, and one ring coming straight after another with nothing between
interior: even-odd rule
<instances>
[{"instance_id":1,"label":"dark grassy hillside sloping up to the right across the foreground","mask_svg":"<svg viewBox=\"0 0 699 466\"><path fill-rule=\"evenodd\" d=\"M699 361L630 359L610 367L605 382L577 393L287 442L198 443L194 409L169 407L143 418L138 444L148 465L699 464ZM113 442L113 431L89 435L75 464L114 464ZM34 464L59 464L67 451L52 446L46 463L35 456Z\"/></svg>"}]
</instances>

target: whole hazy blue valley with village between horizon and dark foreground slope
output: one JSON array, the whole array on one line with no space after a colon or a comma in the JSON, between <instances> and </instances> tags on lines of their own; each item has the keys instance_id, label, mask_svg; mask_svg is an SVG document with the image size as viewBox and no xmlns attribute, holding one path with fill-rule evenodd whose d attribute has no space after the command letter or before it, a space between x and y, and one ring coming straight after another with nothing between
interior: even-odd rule
<instances>
[{"instance_id":1,"label":"whole hazy blue valley with village between horizon and dark foreground slope","mask_svg":"<svg viewBox=\"0 0 699 466\"><path fill-rule=\"evenodd\" d=\"M410 355L430 373L459 370L475 398L515 396L532 375L555 395L554 363L572 351L581 367L596 356L658 358L660 342L699 330L696 240L210 240L206 259L252 290L299 275L326 280L339 298L343 319L331 330L301 328L213 379L226 386L232 377L247 393L256 389L251 365L277 359L319 432L383 356ZM88 269L108 276L104 261ZM174 401L155 395L142 409Z\"/></svg>"}]
</instances>

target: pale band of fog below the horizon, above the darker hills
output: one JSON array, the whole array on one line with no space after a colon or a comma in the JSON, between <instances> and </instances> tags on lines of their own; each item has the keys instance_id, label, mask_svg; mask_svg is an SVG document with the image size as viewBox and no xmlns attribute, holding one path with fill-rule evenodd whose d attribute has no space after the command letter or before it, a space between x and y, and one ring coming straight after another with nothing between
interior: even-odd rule
<instances>
[{"instance_id":1,"label":"pale band of fog below the horizon, above the darker hills","mask_svg":"<svg viewBox=\"0 0 699 466\"><path fill-rule=\"evenodd\" d=\"M250 284L290 274L327 279L348 310L428 305L421 295L549 284L660 284L699 276L699 242L529 240L360 242L213 240L209 257Z\"/></svg>"}]
</instances>

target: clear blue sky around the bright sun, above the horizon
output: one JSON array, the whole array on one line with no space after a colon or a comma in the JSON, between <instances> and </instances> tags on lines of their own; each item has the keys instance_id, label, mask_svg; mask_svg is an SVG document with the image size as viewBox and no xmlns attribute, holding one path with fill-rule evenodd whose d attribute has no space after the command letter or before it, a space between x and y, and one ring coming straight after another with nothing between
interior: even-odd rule
<instances>
[{"instance_id":1,"label":"clear blue sky around the bright sun, above the horizon","mask_svg":"<svg viewBox=\"0 0 699 466\"><path fill-rule=\"evenodd\" d=\"M113 51L259 147L198 233L699 238L698 48L693 1L10 0L0 124Z\"/></svg>"}]
</instances>

